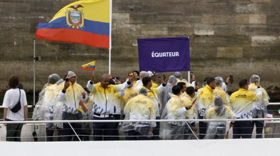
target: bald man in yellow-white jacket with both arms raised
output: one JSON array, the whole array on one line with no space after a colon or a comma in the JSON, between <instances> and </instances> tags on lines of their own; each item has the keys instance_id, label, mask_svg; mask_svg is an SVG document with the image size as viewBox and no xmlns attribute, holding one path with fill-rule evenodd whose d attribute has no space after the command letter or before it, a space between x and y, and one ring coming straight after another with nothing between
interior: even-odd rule
<instances>
[{"instance_id":1,"label":"bald man in yellow-white jacket with both arms raised","mask_svg":"<svg viewBox=\"0 0 280 156\"><path fill-rule=\"evenodd\" d=\"M94 96L93 120L114 120L114 94L126 89L136 78L129 77L128 81L121 85L109 85L108 74L101 75L100 83L94 84L95 77L92 75L87 88ZM94 123L94 140L114 140L114 123Z\"/></svg>"}]
</instances>

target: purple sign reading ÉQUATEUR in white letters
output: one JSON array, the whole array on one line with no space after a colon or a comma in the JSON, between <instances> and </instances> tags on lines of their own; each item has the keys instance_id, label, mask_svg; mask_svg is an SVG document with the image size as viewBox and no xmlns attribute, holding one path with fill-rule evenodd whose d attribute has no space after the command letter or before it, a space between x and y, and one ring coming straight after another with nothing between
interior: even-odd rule
<instances>
[{"instance_id":1,"label":"purple sign reading \u00c9QUATEUR in white letters","mask_svg":"<svg viewBox=\"0 0 280 156\"><path fill-rule=\"evenodd\" d=\"M137 39L140 71L190 71L189 37Z\"/></svg>"}]
</instances>

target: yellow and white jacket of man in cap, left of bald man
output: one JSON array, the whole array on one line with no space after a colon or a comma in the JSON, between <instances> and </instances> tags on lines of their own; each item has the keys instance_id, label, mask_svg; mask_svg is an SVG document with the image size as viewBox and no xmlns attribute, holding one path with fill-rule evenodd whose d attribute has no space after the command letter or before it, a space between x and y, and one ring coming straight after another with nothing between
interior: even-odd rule
<instances>
[{"instance_id":1,"label":"yellow and white jacket of man in cap, left of bald man","mask_svg":"<svg viewBox=\"0 0 280 156\"><path fill-rule=\"evenodd\" d=\"M66 92L63 93L64 83L58 86L58 100L63 103L63 111L77 113L79 102L86 102L88 95L86 94L86 98L82 98L81 93L86 93L85 90L79 84L72 84L71 82L69 82L70 86L66 89Z\"/></svg>"}]
</instances>

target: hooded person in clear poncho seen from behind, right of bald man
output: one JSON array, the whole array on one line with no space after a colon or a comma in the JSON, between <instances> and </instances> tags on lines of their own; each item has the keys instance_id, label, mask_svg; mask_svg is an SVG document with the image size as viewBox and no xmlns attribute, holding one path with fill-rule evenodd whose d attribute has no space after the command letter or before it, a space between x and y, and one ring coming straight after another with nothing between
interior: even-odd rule
<instances>
[{"instance_id":1,"label":"hooded person in clear poncho seen from behind, right of bald man","mask_svg":"<svg viewBox=\"0 0 280 156\"><path fill-rule=\"evenodd\" d=\"M153 101L147 97L146 88L139 90L139 95L131 98L125 108L124 120L155 120L155 109ZM141 136L151 137L151 128L156 127L156 122L124 122L120 128L120 133L127 135L128 131L136 131Z\"/></svg>"}]
</instances>

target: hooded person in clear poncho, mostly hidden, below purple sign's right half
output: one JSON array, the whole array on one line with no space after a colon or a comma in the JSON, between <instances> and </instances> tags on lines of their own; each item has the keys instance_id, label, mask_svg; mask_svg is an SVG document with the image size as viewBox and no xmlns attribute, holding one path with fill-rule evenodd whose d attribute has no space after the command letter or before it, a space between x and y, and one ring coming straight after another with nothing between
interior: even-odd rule
<instances>
[{"instance_id":1,"label":"hooded person in clear poncho, mostly hidden, below purple sign's right half","mask_svg":"<svg viewBox=\"0 0 280 156\"><path fill-rule=\"evenodd\" d=\"M167 82L167 85L165 87L165 90L159 94L159 102L161 104L161 110L162 112L163 108L165 107L165 104L167 101L171 98L169 93L172 93L172 87L173 85L177 84L177 79L173 75L169 76L169 80Z\"/></svg>"}]
</instances>

